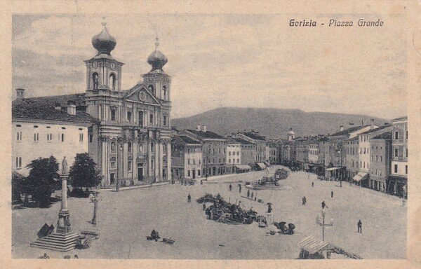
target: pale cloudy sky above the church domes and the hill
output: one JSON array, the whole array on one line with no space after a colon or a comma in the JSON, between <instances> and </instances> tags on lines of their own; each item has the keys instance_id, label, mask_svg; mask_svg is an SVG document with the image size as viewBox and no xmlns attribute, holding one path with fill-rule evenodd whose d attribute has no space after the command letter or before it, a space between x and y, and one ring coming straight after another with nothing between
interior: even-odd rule
<instances>
[{"instance_id":1,"label":"pale cloudy sky above the church domes and the hill","mask_svg":"<svg viewBox=\"0 0 421 269\"><path fill-rule=\"evenodd\" d=\"M172 76L172 117L223 106L406 115L406 31L399 15L384 27L289 27L289 20L354 20L353 15L107 15L124 62L123 90L150 70L159 36ZM13 89L27 97L86 90L83 60L102 14L13 15Z\"/></svg>"}]
</instances>

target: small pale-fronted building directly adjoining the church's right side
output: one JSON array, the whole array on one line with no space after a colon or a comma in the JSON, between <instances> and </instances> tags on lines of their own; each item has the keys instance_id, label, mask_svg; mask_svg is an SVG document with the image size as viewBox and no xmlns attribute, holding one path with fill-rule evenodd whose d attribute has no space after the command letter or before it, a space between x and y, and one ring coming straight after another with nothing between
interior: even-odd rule
<instances>
[{"instance_id":1,"label":"small pale-fronted building directly adjoining the church's right side","mask_svg":"<svg viewBox=\"0 0 421 269\"><path fill-rule=\"evenodd\" d=\"M175 179L196 179L202 177L202 145L199 140L185 135L171 139L173 177Z\"/></svg>"}]
</instances>

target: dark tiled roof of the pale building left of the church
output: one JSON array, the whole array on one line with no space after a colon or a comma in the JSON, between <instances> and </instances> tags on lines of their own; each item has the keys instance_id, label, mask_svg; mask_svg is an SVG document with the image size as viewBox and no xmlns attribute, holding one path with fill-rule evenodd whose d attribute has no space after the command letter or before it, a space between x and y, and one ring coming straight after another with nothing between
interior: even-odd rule
<instances>
[{"instance_id":1,"label":"dark tiled roof of the pale building left of the church","mask_svg":"<svg viewBox=\"0 0 421 269\"><path fill-rule=\"evenodd\" d=\"M12 102L12 117L72 123L97 123L99 121L97 118L84 112L83 97L84 94L75 94L16 99ZM56 103L67 106L67 101L76 103L76 115L69 115L66 107L62 107L61 110L54 108ZM83 111L78 111L78 106L82 106Z\"/></svg>"}]
</instances>

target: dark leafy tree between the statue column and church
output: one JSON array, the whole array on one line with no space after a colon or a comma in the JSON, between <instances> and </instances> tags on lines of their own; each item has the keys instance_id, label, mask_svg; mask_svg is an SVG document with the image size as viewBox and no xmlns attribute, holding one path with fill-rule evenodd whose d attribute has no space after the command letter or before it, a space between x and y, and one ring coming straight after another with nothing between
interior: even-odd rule
<instances>
[{"instance_id":1,"label":"dark leafy tree between the statue column and church","mask_svg":"<svg viewBox=\"0 0 421 269\"><path fill-rule=\"evenodd\" d=\"M101 183L102 176L97 170L97 164L88 153L76 154L74 163L70 167L69 181L74 188L92 188Z\"/></svg>"}]
</instances>

